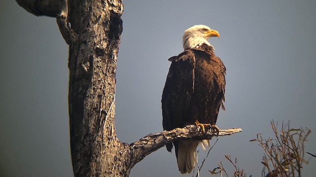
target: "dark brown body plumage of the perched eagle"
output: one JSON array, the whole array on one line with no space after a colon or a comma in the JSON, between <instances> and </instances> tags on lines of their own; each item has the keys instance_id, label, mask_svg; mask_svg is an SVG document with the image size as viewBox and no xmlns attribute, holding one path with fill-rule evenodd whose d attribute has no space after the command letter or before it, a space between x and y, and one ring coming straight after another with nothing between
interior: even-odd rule
<instances>
[{"instance_id":1,"label":"dark brown body plumage of the perched eagle","mask_svg":"<svg viewBox=\"0 0 316 177\"><path fill-rule=\"evenodd\" d=\"M163 129L200 123L215 125L224 109L226 68L211 46L188 49L172 61L162 93ZM178 143L174 142L178 158ZM171 151L172 144L166 146Z\"/></svg>"}]
</instances>

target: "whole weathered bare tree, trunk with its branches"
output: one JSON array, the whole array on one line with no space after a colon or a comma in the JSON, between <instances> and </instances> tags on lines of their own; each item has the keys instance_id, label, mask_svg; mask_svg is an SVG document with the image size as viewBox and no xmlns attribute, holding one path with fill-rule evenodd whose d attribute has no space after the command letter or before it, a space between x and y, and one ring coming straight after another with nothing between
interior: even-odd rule
<instances>
[{"instance_id":1,"label":"whole weathered bare tree, trunk with its branches","mask_svg":"<svg viewBox=\"0 0 316 177\"><path fill-rule=\"evenodd\" d=\"M122 0L17 0L35 15L57 17L69 44L69 117L75 177L128 177L146 155L179 139L211 139L192 125L150 134L130 145L115 130L116 68ZM66 4L66 5L60 5ZM241 129L221 130L220 136Z\"/></svg>"}]
</instances>

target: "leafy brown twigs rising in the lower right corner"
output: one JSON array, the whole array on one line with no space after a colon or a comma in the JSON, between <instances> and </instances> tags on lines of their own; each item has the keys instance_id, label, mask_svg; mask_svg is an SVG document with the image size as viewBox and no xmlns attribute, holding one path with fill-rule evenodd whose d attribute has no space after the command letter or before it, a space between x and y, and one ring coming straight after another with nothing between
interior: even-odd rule
<instances>
[{"instance_id":1,"label":"leafy brown twigs rising in the lower right corner","mask_svg":"<svg viewBox=\"0 0 316 177\"><path fill-rule=\"evenodd\" d=\"M305 142L310 135L309 128L290 128L289 122L282 122L281 130L277 130L277 123L271 121L275 138L264 139L261 134L250 140L258 142L264 150L262 164L262 177L301 177L303 163L308 164L304 159ZM268 173L266 174L266 169Z\"/></svg>"}]
</instances>

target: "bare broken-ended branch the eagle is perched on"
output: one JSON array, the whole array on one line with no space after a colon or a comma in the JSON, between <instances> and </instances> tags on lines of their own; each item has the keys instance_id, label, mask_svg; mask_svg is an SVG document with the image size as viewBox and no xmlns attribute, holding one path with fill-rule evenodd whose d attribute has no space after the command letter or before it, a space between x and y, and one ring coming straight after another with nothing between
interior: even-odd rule
<instances>
[{"instance_id":1,"label":"bare broken-ended branch the eagle is perched on","mask_svg":"<svg viewBox=\"0 0 316 177\"><path fill-rule=\"evenodd\" d=\"M227 130L219 130L218 136L232 135L241 132L241 128L231 128ZM168 143L183 139L210 140L216 137L214 132L201 133L200 129L195 125L188 125L184 128L175 128L170 131L149 134L142 139L130 144L133 150L131 166L144 159L150 153L158 150Z\"/></svg>"}]
</instances>

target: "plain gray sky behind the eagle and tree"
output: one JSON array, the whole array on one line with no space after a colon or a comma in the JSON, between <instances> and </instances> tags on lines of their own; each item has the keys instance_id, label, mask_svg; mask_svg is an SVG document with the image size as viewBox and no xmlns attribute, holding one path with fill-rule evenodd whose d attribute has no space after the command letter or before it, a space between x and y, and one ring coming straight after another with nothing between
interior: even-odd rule
<instances>
[{"instance_id":1,"label":"plain gray sky behind the eagle and tree","mask_svg":"<svg viewBox=\"0 0 316 177\"><path fill-rule=\"evenodd\" d=\"M182 33L198 24L220 32L210 43L227 67L226 111L202 176L225 154L261 176L261 148L250 139L272 136L270 120L310 127L306 150L316 153L315 0L125 0L118 55L116 128L132 143L162 130L160 99ZM56 20L36 17L0 0L0 176L72 177L68 118L68 46ZM212 140L211 143L214 143ZM204 153L199 154L200 159ZM306 155L308 159L310 156ZM316 174L316 159L304 176ZM174 153L147 156L131 177L181 177ZM192 175L191 175L192 176Z\"/></svg>"}]
</instances>

